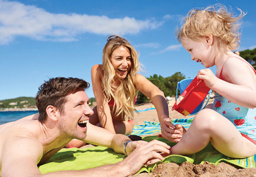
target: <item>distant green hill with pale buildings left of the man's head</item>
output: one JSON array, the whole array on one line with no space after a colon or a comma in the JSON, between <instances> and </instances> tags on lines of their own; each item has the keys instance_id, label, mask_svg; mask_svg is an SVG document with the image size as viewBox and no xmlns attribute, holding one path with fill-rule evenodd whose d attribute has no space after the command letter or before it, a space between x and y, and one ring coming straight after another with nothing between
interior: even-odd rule
<instances>
[{"instance_id":1,"label":"distant green hill with pale buildings left of the man's head","mask_svg":"<svg viewBox=\"0 0 256 177\"><path fill-rule=\"evenodd\" d=\"M31 108L36 107L34 97L18 97L8 100L0 100L0 108Z\"/></svg>"}]
</instances>

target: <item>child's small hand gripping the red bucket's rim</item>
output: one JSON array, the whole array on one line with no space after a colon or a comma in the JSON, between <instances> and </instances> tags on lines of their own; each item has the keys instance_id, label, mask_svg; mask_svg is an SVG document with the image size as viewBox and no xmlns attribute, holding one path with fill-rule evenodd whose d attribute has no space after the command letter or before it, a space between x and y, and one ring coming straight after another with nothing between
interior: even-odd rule
<instances>
[{"instance_id":1,"label":"child's small hand gripping the red bucket's rim","mask_svg":"<svg viewBox=\"0 0 256 177\"><path fill-rule=\"evenodd\" d=\"M197 74L197 78L202 79L205 85L209 88L212 88L218 80L216 75L214 75L214 73L210 69L200 70Z\"/></svg>"}]
</instances>

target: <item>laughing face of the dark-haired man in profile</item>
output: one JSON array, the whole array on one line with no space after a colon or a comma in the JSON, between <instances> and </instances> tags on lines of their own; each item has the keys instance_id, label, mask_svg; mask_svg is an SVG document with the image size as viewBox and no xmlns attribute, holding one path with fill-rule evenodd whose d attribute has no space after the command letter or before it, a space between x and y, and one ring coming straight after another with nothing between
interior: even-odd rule
<instances>
[{"instance_id":1,"label":"laughing face of the dark-haired man in profile","mask_svg":"<svg viewBox=\"0 0 256 177\"><path fill-rule=\"evenodd\" d=\"M84 89L78 89L66 98L64 113L59 118L60 131L67 137L82 140L86 137L89 116L93 114L89 98Z\"/></svg>"}]
</instances>

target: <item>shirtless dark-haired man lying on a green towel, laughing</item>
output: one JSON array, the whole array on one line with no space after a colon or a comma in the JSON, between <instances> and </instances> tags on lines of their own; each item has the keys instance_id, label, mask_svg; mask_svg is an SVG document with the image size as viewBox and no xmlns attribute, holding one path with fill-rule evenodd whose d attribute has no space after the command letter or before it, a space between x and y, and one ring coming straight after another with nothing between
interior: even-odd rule
<instances>
[{"instance_id":1,"label":"shirtless dark-haired man lying on a green towel, laughing","mask_svg":"<svg viewBox=\"0 0 256 177\"><path fill-rule=\"evenodd\" d=\"M152 158L162 160L158 152L170 153L171 147L160 141L131 141L124 146L130 141L127 136L91 125L89 116L93 110L84 91L88 87L81 79L52 78L40 86L36 95L39 114L0 126L0 176L41 176L37 166L73 138L129 156L116 164L42 176L127 176L136 173Z\"/></svg>"}]
</instances>

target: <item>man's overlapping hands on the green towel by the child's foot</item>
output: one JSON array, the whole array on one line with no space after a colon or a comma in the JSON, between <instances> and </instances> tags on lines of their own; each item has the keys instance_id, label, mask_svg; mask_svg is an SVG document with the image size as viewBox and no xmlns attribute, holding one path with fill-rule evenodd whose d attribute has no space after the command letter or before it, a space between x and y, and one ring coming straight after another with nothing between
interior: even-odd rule
<instances>
[{"instance_id":1,"label":"man's overlapping hands on the green towel by the child's foot","mask_svg":"<svg viewBox=\"0 0 256 177\"><path fill-rule=\"evenodd\" d=\"M132 148L135 150L131 152L131 154L123 161L121 161L120 165L126 167L131 174L138 172L143 164L149 164L152 159L154 159L154 162L163 160L164 158L159 152L163 152L165 154L171 153L171 147L158 140L153 140L149 143L146 141L132 141L129 142L127 146L128 145L131 147L127 147L127 151L131 152Z\"/></svg>"}]
</instances>

